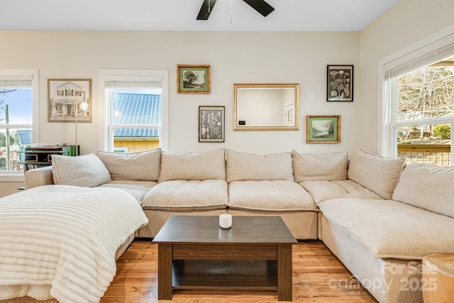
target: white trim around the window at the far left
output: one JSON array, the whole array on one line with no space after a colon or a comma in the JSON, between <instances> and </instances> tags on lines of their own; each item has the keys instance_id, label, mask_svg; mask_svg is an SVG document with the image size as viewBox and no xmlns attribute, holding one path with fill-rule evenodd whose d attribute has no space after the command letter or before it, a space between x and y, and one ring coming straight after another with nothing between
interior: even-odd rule
<instances>
[{"instance_id":1,"label":"white trim around the window at the far left","mask_svg":"<svg viewBox=\"0 0 454 303\"><path fill-rule=\"evenodd\" d=\"M31 89L32 89L32 142L39 142L39 126L40 126L40 114L39 114L39 72L35 69L9 69L0 70L0 77L7 79L15 79L16 77L32 77ZM46 103L47 104L47 103ZM18 125L16 125L17 127ZM23 170L15 171L2 171L0 172L0 182L23 182Z\"/></svg>"}]
</instances>

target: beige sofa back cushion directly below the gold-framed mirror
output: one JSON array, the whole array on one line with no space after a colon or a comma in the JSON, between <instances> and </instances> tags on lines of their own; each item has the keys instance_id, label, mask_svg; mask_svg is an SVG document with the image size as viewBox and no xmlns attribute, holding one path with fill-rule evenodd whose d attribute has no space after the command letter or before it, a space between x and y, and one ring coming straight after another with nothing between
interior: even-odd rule
<instances>
[{"instance_id":1,"label":"beige sofa back cushion directly below the gold-framed mirror","mask_svg":"<svg viewBox=\"0 0 454 303\"><path fill-rule=\"evenodd\" d=\"M292 153L256 155L227 150L227 182L244 180L293 181Z\"/></svg>"}]
</instances>

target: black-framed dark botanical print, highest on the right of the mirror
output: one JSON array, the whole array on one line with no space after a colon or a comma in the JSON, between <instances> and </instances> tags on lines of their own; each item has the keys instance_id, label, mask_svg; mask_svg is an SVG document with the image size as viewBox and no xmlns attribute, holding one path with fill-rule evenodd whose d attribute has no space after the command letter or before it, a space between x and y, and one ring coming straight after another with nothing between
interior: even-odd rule
<instances>
[{"instance_id":1,"label":"black-framed dark botanical print, highest on the right of the mirror","mask_svg":"<svg viewBox=\"0 0 454 303\"><path fill-rule=\"evenodd\" d=\"M353 101L353 65L328 65L327 101Z\"/></svg>"}]
</instances>

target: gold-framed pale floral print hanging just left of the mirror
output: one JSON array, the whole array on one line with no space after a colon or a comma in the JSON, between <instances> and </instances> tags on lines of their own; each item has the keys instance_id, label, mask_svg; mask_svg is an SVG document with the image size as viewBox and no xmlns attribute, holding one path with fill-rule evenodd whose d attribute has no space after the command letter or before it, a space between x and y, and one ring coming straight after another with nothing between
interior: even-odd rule
<instances>
[{"instance_id":1,"label":"gold-framed pale floral print hanging just left of the mirror","mask_svg":"<svg viewBox=\"0 0 454 303\"><path fill-rule=\"evenodd\" d=\"M224 142L225 106L199 106L199 142Z\"/></svg>"}]
</instances>

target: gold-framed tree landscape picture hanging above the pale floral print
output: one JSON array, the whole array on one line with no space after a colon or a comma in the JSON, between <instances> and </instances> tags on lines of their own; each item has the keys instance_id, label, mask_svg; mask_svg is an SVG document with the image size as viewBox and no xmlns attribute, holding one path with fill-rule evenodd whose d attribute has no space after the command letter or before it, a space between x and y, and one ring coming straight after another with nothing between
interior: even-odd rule
<instances>
[{"instance_id":1,"label":"gold-framed tree landscape picture hanging above the pale floral print","mask_svg":"<svg viewBox=\"0 0 454 303\"><path fill-rule=\"evenodd\" d=\"M179 94L209 94L211 92L209 65L177 65Z\"/></svg>"}]
</instances>

